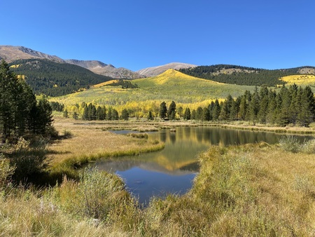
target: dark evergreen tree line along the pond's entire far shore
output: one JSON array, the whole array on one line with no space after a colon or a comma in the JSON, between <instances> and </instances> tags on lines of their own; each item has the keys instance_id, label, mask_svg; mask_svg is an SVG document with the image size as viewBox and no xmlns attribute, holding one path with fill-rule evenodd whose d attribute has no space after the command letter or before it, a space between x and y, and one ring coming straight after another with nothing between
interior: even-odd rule
<instances>
[{"instance_id":1,"label":"dark evergreen tree line along the pond's entire far shore","mask_svg":"<svg viewBox=\"0 0 315 237\"><path fill-rule=\"evenodd\" d=\"M62 104L54 102L54 108L62 108ZM120 114L113 107L86 104L83 102L76 109L83 111L80 115L83 120L127 120L134 113L130 109L123 109ZM69 116L68 112L64 116ZM73 118L78 118L79 114L74 111ZM295 84L282 86L278 93L272 88L262 86L254 92L246 90L243 95L233 98L231 95L224 101L212 101L207 107L190 109L186 107L176 107L172 101L169 105L163 101L158 108L148 109L146 118L154 120L196 120L196 121L249 121L253 124L273 124L277 126L287 126L288 124L309 126L315 119L315 99L314 93L309 86L302 88Z\"/></svg>"}]
</instances>

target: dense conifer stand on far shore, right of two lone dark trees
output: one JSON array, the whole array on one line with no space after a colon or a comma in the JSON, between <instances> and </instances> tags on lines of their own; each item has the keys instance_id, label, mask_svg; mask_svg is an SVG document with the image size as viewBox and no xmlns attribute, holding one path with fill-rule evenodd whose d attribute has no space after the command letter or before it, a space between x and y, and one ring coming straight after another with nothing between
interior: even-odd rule
<instances>
[{"instance_id":1,"label":"dense conifer stand on far shore, right of two lone dark trees","mask_svg":"<svg viewBox=\"0 0 315 237\"><path fill-rule=\"evenodd\" d=\"M266 86L256 88L253 93L246 90L244 95L223 102L215 100L208 107L198 107L190 112L186 108L183 119L198 121L250 121L253 124L288 124L309 126L315 118L314 93L309 86L297 87L295 84L282 86L279 93Z\"/></svg>"}]
</instances>

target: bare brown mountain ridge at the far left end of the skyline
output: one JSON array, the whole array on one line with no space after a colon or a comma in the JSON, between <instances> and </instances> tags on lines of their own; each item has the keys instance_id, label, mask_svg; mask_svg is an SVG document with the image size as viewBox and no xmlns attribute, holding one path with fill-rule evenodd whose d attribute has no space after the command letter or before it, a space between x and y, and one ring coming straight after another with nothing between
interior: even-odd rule
<instances>
[{"instance_id":1,"label":"bare brown mountain ridge at the far left end of the skyline","mask_svg":"<svg viewBox=\"0 0 315 237\"><path fill-rule=\"evenodd\" d=\"M64 60L55 55L48 55L38 52L36 50L32 50L31 48L25 48L23 46L0 46L0 58L6 60L6 62L31 58L40 58L52 60L55 62L64 62Z\"/></svg>"}]
</instances>

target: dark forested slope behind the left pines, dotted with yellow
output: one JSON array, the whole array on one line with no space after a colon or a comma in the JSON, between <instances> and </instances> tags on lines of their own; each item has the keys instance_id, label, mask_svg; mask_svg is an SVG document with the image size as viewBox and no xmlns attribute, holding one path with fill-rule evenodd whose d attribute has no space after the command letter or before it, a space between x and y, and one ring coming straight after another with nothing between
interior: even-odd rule
<instances>
[{"instance_id":1,"label":"dark forested slope behind the left pines, dotted with yellow","mask_svg":"<svg viewBox=\"0 0 315 237\"><path fill-rule=\"evenodd\" d=\"M77 65L46 59L15 60L9 65L15 74L23 75L36 94L66 95L112 80Z\"/></svg>"}]
</instances>

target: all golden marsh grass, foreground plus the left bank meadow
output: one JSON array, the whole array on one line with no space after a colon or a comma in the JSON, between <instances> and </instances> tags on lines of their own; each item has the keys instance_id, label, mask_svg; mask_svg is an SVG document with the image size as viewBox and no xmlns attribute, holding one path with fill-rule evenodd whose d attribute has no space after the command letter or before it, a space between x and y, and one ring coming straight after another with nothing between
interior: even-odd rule
<instances>
[{"instance_id":1,"label":"all golden marsh grass, foreground plus the left bank meadow","mask_svg":"<svg viewBox=\"0 0 315 237\"><path fill-rule=\"evenodd\" d=\"M200 154L200 173L187 194L153 197L141 208L116 175L74 168L163 144L102 126L57 124L73 133L49 147L50 177L64 179L42 190L1 191L3 236L314 236L314 141L295 153L266 143L210 147Z\"/></svg>"}]
</instances>

